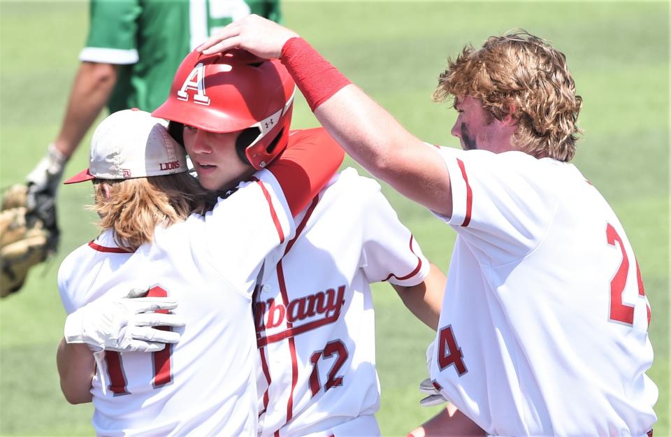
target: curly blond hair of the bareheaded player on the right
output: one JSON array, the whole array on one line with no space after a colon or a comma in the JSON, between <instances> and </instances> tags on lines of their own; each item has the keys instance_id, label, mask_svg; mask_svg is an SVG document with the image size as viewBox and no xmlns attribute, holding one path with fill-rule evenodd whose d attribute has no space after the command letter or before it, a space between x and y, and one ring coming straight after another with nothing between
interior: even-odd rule
<instances>
[{"instance_id":1,"label":"curly blond hair of the bareheaded player on the right","mask_svg":"<svg viewBox=\"0 0 671 437\"><path fill-rule=\"evenodd\" d=\"M467 45L456 61L447 62L434 101L471 96L498 120L512 108L514 148L563 162L573 158L582 134L577 125L582 97L575 94L562 52L518 29L489 37L479 50Z\"/></svg>"}]
</instances>

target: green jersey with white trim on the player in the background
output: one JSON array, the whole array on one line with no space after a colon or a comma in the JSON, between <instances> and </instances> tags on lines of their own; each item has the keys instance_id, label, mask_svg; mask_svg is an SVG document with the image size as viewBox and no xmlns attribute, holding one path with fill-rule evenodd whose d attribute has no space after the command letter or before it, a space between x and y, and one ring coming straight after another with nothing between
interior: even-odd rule
<instances>
[{"instance_id":1,"label":"green jersey with white trim on the player in the background","mask_svg":"<svg viewBox=\"0 0 671 437\"><path fill-rule=\"evenodd\" d=\"M280 21L279 0L91 0L82 62L118 64L108 108L152 111L180 62L213 31L255 13Z\"/></svg>"}]
</instances>

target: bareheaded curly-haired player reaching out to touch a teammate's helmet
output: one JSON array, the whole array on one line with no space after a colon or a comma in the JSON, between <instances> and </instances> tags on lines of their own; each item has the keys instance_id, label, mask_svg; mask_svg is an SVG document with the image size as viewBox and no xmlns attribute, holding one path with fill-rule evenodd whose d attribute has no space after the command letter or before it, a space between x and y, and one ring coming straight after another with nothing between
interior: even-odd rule
<instances>
[{"instance_id":1,"label":"bareheaded curly-haired player reaching out to touch a teammate's helmet","mask_svg":"<svg viewBox=\"0 0 671 437\"><path fill-rule=\"evenodd\" d=\"M288 29L247 17L198 50L233 47L280 58L354 159L457 232L435 396L492 436L651 430L650 308L619 220L569 163L582 99L561 52L519 31L450 62L435 99L454 97L456 150L412 136Z\"/></svg>"}]
</instances>

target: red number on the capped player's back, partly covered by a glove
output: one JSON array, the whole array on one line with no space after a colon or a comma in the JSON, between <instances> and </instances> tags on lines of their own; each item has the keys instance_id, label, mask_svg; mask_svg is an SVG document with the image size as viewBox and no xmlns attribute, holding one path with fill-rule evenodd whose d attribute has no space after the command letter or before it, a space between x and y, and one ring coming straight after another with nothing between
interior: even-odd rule
<instances>
[{"instance_id":1,"label":"red number on the capped player's back, partly covered by a glove","mask_svg":"<svg viewBox=\"0 0 671 437\"><path fill-rule=\"evenodd\" d=\"M167 297L168 292L161 287L152 287L147 292L147 297ZM168 313L168 310L158 310L157 313ZM157 327L164 331L169 331L171 327ZM164 350L159 352L152 352L152 362L154 364L154 377L152 378L152 386L154 388L162 387L172 380L170 355L173 352L173 345L167 344ZM126 385L126 375L123 370L121 355L119 352L105 352L105 361L107 364L107 371L110 376L110 392L115 396L119 394L129 394Z\"/></svg>"}]
</instances>

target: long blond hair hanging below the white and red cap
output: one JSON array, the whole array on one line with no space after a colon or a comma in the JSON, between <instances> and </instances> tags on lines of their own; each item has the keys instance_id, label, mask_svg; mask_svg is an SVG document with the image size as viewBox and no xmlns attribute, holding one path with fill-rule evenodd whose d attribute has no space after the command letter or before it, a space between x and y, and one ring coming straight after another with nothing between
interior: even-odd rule
<instances>
[{"instance_id":1,"label":"long blond hair hanging below the white and red cap","mask_svg":"<svg viewBox=\"0 0 671 437\"><path fill-rule=\"evenodd\" d=\"M189 173L124 180L94 180L101 229L112 229L120 248L134 252L150 243L157 226L182 222L191 213L205 213L216 195Z\"/></svg>"}]
</instances>

